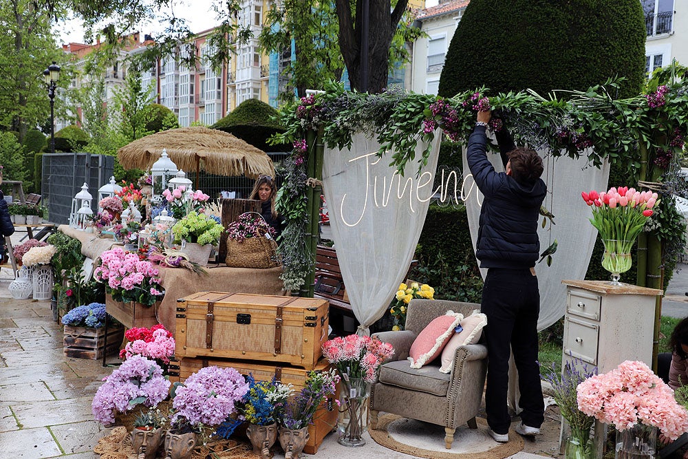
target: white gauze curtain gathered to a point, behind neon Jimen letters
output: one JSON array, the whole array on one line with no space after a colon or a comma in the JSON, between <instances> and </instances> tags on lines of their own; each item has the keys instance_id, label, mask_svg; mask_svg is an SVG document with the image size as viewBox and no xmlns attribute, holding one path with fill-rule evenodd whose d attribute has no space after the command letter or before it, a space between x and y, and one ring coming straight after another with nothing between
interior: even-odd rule
<instances>
[{"instance_id":1,"label":"white gauze curtain gathered to a point, behind neon Jimen letters","mask_svg":"<svg viewBox=\"0 0 688 459\"><path fill-rule=\"evenodd\" d=\"M323 193L332 238L359 334L380 319L409 269L433 195L440 133L420 177L410 161L402 177L376 156L376 140L356 134L350 150L325 148ZM427 144L419 143L416 159Z\"/></svg>"}]
</instances>

